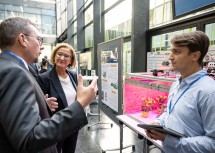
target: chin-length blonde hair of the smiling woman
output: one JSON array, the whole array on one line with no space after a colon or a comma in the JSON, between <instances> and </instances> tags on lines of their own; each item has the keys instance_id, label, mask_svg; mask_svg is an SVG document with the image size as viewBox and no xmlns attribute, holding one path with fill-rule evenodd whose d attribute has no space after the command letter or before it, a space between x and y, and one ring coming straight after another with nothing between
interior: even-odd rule
<instances>
[{"instance_id":1,"label":"chin-length blonde hair of the smiling woman","mask_svg":"<svg viewBox=\"0 0 215 153\"><path fill-rule=\"evenodd\" d=\"M55 63L55 55L57 53L57 51L60 48L67 48L71 51L72 53L72 57L71 57L71 62L68 65L68 67L74 68L76 66L76 54L75 54L75 50L73 49L73 47L67 43L60 43L57 44L56 47L53 49L52 53L51 53L51 57L50 57L50 63L54 64Z\"/></svg>"}]
</instances>

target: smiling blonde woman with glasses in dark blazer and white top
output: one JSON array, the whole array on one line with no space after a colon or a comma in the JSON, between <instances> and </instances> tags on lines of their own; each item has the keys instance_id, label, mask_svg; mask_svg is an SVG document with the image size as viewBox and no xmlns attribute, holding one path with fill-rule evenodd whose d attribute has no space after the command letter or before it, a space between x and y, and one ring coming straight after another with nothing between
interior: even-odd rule
<instances>
[{"instance_id":1,"label":"smiling blonde woman with glasses in dark blazer and white top","mask_svg":"<svg viewBox=\"0 0 215 153\"><path fill-rule=\"evenodd\" d=\"M73 47L66 43L57 45L52 51L50 62L54 64L54 67L50 71L40 74L37 81L44 94L57 98L58 107L53 105L51 108L56 108L52 110L58 112L76 99L77 74L70 69L76 66ZM57 144L58 152L74 153L77 137L78 131L74 131L73 135L59 142Z\"/></svg>"}]
</instances>

